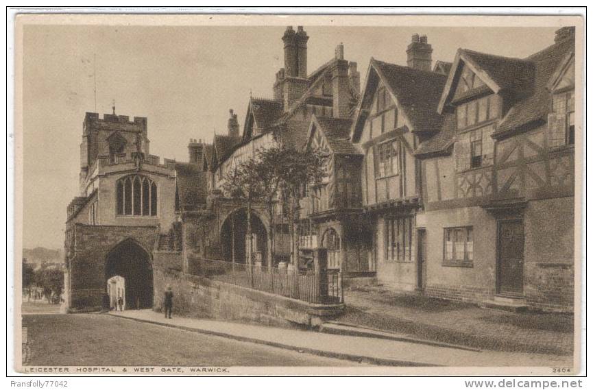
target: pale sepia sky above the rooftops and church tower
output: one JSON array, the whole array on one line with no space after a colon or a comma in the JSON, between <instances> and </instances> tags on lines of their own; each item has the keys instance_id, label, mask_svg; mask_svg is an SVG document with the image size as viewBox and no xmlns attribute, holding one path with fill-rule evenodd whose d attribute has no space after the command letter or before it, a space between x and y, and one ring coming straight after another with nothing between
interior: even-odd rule
<instances>
[{"instance_id":1,"label":"pale sepia sky above the rooftops and church tower","mask_svg":"<svg viewBox=\"0 0 593 390\"><path fill-rule=\"evenodd\" d=\"M290 23L287 21L287 25ZM414 33L435 60L459 47L524 58L554 41L554 27L307 27L308 73L343 43L361 83L374 57L406 64ZM285 27L25 25L23 30L23 247L63 246L66 206L78 195L85 112L148 118L151 154L187 160L190 138L241 131L250 93L272 97L284 66ZM18 63L19 59L17 59ZM95 108L96 74L96 108Z\"/></svg>"}]
</instances>

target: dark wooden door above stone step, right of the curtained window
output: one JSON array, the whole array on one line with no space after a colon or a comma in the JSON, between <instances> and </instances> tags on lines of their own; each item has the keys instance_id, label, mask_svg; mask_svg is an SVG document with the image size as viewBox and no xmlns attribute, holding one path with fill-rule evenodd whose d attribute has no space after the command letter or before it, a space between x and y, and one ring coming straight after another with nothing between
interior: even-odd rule
<instances>
[{"instance_id":1,"label":"dark wooden door above stone step, right of the curtained window","mask_svg":"<svg viewBox=\"0 0 593 390\"><path fill-rule=\"evenodd\" d=\"M498 293L523 294L523 221L498 221Z\"/></svg>"}]
</instances>

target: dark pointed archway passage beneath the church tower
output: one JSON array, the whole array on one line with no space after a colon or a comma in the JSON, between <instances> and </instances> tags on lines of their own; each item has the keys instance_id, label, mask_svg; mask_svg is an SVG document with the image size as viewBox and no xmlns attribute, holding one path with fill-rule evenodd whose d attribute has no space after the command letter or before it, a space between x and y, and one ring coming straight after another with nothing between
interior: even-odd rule
<instances>
[{"instance_id":1,"label":"dark pointed archway passage beneath the church tower","mask_svg":"<svg viewBox=\"0 0 593 390\"><path fill-rule=\"evenodd\" d=\"M126 308L152 308L150 255L136 241L122 241L107 255L105 280L110 280L113 276L123 278Z\"/></svg>"}]
</instances>

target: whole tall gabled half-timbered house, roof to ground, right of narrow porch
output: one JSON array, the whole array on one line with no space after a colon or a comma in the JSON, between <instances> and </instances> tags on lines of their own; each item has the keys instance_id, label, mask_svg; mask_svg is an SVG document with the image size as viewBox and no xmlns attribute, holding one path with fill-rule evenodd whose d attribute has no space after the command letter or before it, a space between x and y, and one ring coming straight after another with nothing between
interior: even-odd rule
<instances>
[{"instance_id":1,"label":"whole tall gabled half-timbered house, roof to ground, right of narrow porch","mask_svg":"<svg viewBox=\"0 0 593 390\"><path fill-rule=\"evenodd\" d=\"M422 69L372 59L352 126L364 153L361 195L374 248L367 256L379 280L404 290L416 279L421 171L414 151L441 129L437 105L447 78Z\"/></svg>"}]
</instances>

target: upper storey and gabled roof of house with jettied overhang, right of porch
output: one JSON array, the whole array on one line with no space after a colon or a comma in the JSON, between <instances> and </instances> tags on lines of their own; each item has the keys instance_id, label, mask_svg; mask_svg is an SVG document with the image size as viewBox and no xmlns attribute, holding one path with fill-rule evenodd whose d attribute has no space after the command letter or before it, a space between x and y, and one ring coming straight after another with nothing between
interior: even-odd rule
<instances>
[{"instance_id":1,"label":"upper storey and gabled roof of house with jettied overhang, right of porch","mask_svg":"<svg viewBox=\"0 0 593 390\"><path fill-rule=\"evenodd\" d=\"M371 60L352 129L352 141L365 151L365 206L419 195L413 152L439 130L436 103L445 80L439 73Z\"/></svg>"}]
</instances>

